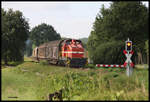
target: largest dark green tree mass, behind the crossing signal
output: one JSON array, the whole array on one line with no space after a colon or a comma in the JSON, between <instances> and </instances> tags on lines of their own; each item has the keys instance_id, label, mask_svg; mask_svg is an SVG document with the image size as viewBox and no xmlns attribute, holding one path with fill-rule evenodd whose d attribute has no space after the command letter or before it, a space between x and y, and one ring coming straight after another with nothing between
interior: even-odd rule
<instances>
[{"instance_id":1,"label":"largest dark green tree mass, behind the crossing signal","mask_svg":"<svg viewBox=\"0 0 150 102\"><path fill-rule=\"evenodd\" d=\"M127 38L133 41L135 61L148 39L148 8L139 1L113 2L107 9L103 5L88 39L90 57L94 63L123 63Z\"/></svg>"}]
</instances>

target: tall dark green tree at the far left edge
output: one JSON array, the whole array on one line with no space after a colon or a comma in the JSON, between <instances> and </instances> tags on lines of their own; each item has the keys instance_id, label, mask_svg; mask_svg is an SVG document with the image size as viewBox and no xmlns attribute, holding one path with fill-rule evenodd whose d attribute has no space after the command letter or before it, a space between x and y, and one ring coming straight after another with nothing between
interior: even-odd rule
<instances>
[{"instance_id":1,"label":"tall dark green tree at the far left edge","mask_svg":"<svg viewBox=\"0 0 150 102\"><path fill-rule=\"evenodd\" d=\"M25 41L29 34L29 24L20 11L1 9L2 17L2 60L23 60Z\"/></svg>"}]
</instances>

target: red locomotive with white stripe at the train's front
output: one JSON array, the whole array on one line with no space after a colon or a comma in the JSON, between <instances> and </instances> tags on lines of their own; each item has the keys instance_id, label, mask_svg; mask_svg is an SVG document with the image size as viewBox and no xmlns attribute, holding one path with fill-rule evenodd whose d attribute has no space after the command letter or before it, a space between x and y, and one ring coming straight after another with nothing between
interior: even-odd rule
<instances>
[{"instance_id":1,"label":"red locomotive with white stripe at the train's front","mask_svg":"<svg viewBox=\"0 0 150 102\"><path fill-rule=\"evenodd\" d=\"M83 67L86 64L84 47L80 40L66 40L62 46L62 57L67 59L67 64L73 67Z\"/></svg>"}]
</instances>

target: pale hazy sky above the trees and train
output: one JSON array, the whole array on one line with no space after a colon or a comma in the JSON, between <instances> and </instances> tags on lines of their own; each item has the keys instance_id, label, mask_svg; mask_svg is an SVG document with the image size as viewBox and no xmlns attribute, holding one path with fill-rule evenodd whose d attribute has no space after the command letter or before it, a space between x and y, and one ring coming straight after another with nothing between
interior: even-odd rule
<instances>
[{"instance_id":1,"label":"pale hazy sky above the trees and train","mask_svg":"<svg viewBox=\"0 0 150 102\"><path fill-rule=\"evenodd\" d=\"M46 23L52 25L61 37L84 38L90 35L96 15L102 4L112 2L1 2L2 8L19 10L28 20L30 29ZM147 7L148 2L144 1Z\"/></svg>"}]
</instances>

